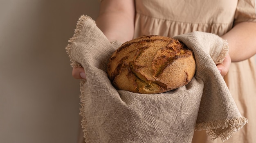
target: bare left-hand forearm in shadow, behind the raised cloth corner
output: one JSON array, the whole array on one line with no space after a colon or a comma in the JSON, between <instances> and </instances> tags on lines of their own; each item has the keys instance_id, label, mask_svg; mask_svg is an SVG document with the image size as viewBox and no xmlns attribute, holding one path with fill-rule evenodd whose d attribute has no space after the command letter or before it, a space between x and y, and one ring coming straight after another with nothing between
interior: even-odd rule
<instances>
[{"instance_id":1,"label":"bare left-hand forearm in shadow, behind the raised cloth corner","mask_svg":"<svg viewBox=\"0 0 256 143\"><path fill-rule=\"evenodd\" d=\"M133 38L134 17L133 0L103 0L96 24L109 41L124 43Z\"/></svg>"}]
</instances>

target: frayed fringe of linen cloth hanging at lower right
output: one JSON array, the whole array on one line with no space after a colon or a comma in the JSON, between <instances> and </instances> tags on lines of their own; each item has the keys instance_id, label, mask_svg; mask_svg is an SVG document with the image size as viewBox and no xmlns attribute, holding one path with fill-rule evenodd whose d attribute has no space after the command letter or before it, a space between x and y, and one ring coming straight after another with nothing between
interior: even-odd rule
<instances>
[{"instance_id":1,"label":"frayed fringe of linen cloth hanging at lower right","mask_svg":"<svg viewBox=\"0 0 256 143\"><path fill-rule=\"evenodd\" d=\"M236 117L232 119L199 123L195 125L195 130L206 130L207 135L212 137L213 140L220 137L222 142L225 142L232 137L233 132L237 132L247 123L248 120L245 117ZM217 130L221 130L221 132Z\"/></svg>"}]
</instances>

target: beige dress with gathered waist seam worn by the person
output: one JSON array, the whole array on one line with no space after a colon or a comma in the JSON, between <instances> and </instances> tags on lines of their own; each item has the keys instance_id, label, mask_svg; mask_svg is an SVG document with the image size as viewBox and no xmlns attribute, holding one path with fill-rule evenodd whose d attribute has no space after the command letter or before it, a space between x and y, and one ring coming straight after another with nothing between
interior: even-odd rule
<instances>
[{"instance_id":1,"label":"beige dress with gathered waist seam worn by the person","mask_svg":"<svg viewBox=\"0 0 256 143\"><path fill-rule=\"evenodd\" d=\"M256 22L255 0L135 0L135 37L162 35L174 37L203 31L219 36L233 24ZM240 113L249 122L225 143L256 143L256 64L255 57L232 63L225 81ZM204 131L196 131L193 143L214 141Z\"/></svg>"}]
</instances>

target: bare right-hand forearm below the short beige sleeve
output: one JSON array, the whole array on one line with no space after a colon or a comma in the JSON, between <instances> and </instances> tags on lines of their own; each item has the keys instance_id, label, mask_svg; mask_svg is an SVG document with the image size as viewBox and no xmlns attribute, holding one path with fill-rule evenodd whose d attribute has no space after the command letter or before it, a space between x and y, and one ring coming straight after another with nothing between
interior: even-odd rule
<instances>
[{"instance_id":1,"label":"bare right-hand forearm below the short beige sleeve","mask_svg":"<svg viewBox=\"0 0 256 143\"><path fill-rule=\"evenodd\" d=\"M242 22L222 36L229 43L232 62L243 61L256 54L256 23Z\"/></svg>"}]
</instances>

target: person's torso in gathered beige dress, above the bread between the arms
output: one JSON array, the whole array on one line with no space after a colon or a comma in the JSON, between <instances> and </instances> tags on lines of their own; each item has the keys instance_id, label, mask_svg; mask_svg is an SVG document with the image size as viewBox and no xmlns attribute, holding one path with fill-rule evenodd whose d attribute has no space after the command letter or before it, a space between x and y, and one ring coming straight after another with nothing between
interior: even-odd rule
<instances>
[{"instance_id":1,"label":"person's torso in gathered beige dress, above the bread between the arms","mask_svg":"<svg viewBox=\"0 0 256 143\"><path fill-rule=\"evenodd\" d=\"M203 31L223 35L233 26L237 0L135 0L135 37L173 37Z\"/></svg>"}]
</instances>

